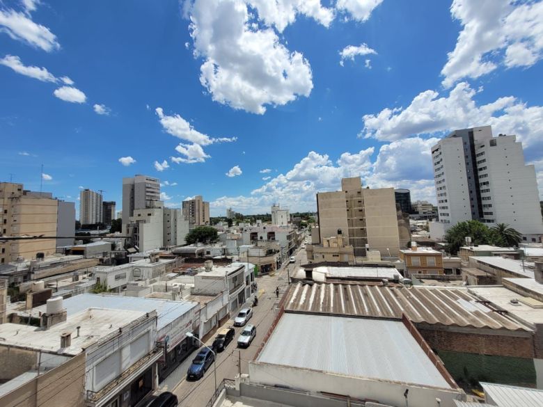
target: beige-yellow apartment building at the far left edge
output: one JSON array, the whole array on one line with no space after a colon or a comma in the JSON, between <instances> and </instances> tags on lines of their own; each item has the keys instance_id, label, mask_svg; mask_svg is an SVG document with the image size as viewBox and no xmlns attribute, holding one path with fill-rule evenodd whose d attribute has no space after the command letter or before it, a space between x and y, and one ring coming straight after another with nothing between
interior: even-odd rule
<instances>
[{"instance_id":1,"label":"beige-yellow apartment building at the far left edge","mask_svg":"<svg viewBox=\"0 0 543 407\"><path fill-rule=\"evenodd\" d=\"M0 235L55 236L57 211L58 200L51 193L25 191L22 184L0 182ZM29 260L38 253L47 256L55 252L56 239L0 241L0 264L15 262L17 257Z\"/></svg>"}]
</instances>

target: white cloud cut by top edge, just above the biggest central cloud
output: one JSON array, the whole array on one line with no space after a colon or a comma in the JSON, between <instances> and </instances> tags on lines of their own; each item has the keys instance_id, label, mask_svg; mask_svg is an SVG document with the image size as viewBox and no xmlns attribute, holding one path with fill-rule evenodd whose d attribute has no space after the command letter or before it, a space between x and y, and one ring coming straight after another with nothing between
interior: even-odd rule
<instances>
[{"instance_id":1,"label":"white cloud cut by top edge, just above the biggest central cloud","mask_svg":"<svg viewBox=\"0 0 543 407\"><path fill-rule=\"evenodd\" d=\"M258 17L267 26L274 26L279 33L296 21L298 14L315 19L325 27L333 21L333 9L322 7L320 0L249 0L258 11Z\"/></svg>"}]
</instances>

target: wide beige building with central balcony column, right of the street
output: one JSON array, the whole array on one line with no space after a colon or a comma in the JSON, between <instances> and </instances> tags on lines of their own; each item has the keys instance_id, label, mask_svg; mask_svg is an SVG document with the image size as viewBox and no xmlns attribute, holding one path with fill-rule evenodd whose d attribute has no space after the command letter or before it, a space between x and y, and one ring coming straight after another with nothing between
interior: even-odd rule
<instances>
[{"instance_id":1,"label":"wide beige building with central balcony column, right of the street","mask_svg":"<svg viewBox=\"0 0 543 407\"><path fill-rule=\"evenodd\" d=\"M400 235L393 188L363 189L360 177L343 178L341 191L317 193L320 241L338 231L365 256L366 244L381 255L398 255Z\"/></svg>"}]
</instances>

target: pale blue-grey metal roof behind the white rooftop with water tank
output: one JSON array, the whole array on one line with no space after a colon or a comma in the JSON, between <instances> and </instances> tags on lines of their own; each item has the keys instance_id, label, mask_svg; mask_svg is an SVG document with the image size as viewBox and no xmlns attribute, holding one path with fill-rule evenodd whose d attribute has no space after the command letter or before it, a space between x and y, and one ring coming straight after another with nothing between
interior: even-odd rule
<instances>
[{"instance_id":1,"label":"pale blue-grey metal roof behind the white rooftop with water tank","mask_svg":"<svg viewBox=\"0 0 543 407\"><path fill-rule=\"evenodd\" d=\"M170 293L168 293L170 294ZM32 314L45 312L47 305L33 308ZM171 301L157 298L125 297L125 296L104 296L100 294L79 294L63 300L63 307L71 315L78 314L88 308L109 308L115 314L121 310L140 312L157 312L157 330L161 330L171 322L182 317L184 314L197 307L198 303L191 301ZM22 312L24 314L24 312ZM1 326L1 325L0 325ZM0 342L1 343L1 342Z\"/></svg>"}]
</instances>

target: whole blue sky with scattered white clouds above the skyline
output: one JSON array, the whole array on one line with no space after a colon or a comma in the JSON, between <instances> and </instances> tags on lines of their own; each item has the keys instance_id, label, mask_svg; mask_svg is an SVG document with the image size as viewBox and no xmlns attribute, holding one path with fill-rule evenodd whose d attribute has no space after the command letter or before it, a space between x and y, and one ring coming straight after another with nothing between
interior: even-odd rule
<instances>
[{"instance_id":1,"label":"whole blue sky with scattered white clouds above the skyline","mask_svg":"<svg viewBox=\"0 0 543 407\"><path fill-rule=\"evenodd\" d=\"M542 51L541 1L4 0L0 179L43 164L44 191L120 207L151 175L212 215L315 210L356 175L434 202L431 145L492 125L541 191Z\"/></svg>"}]
</instances>

